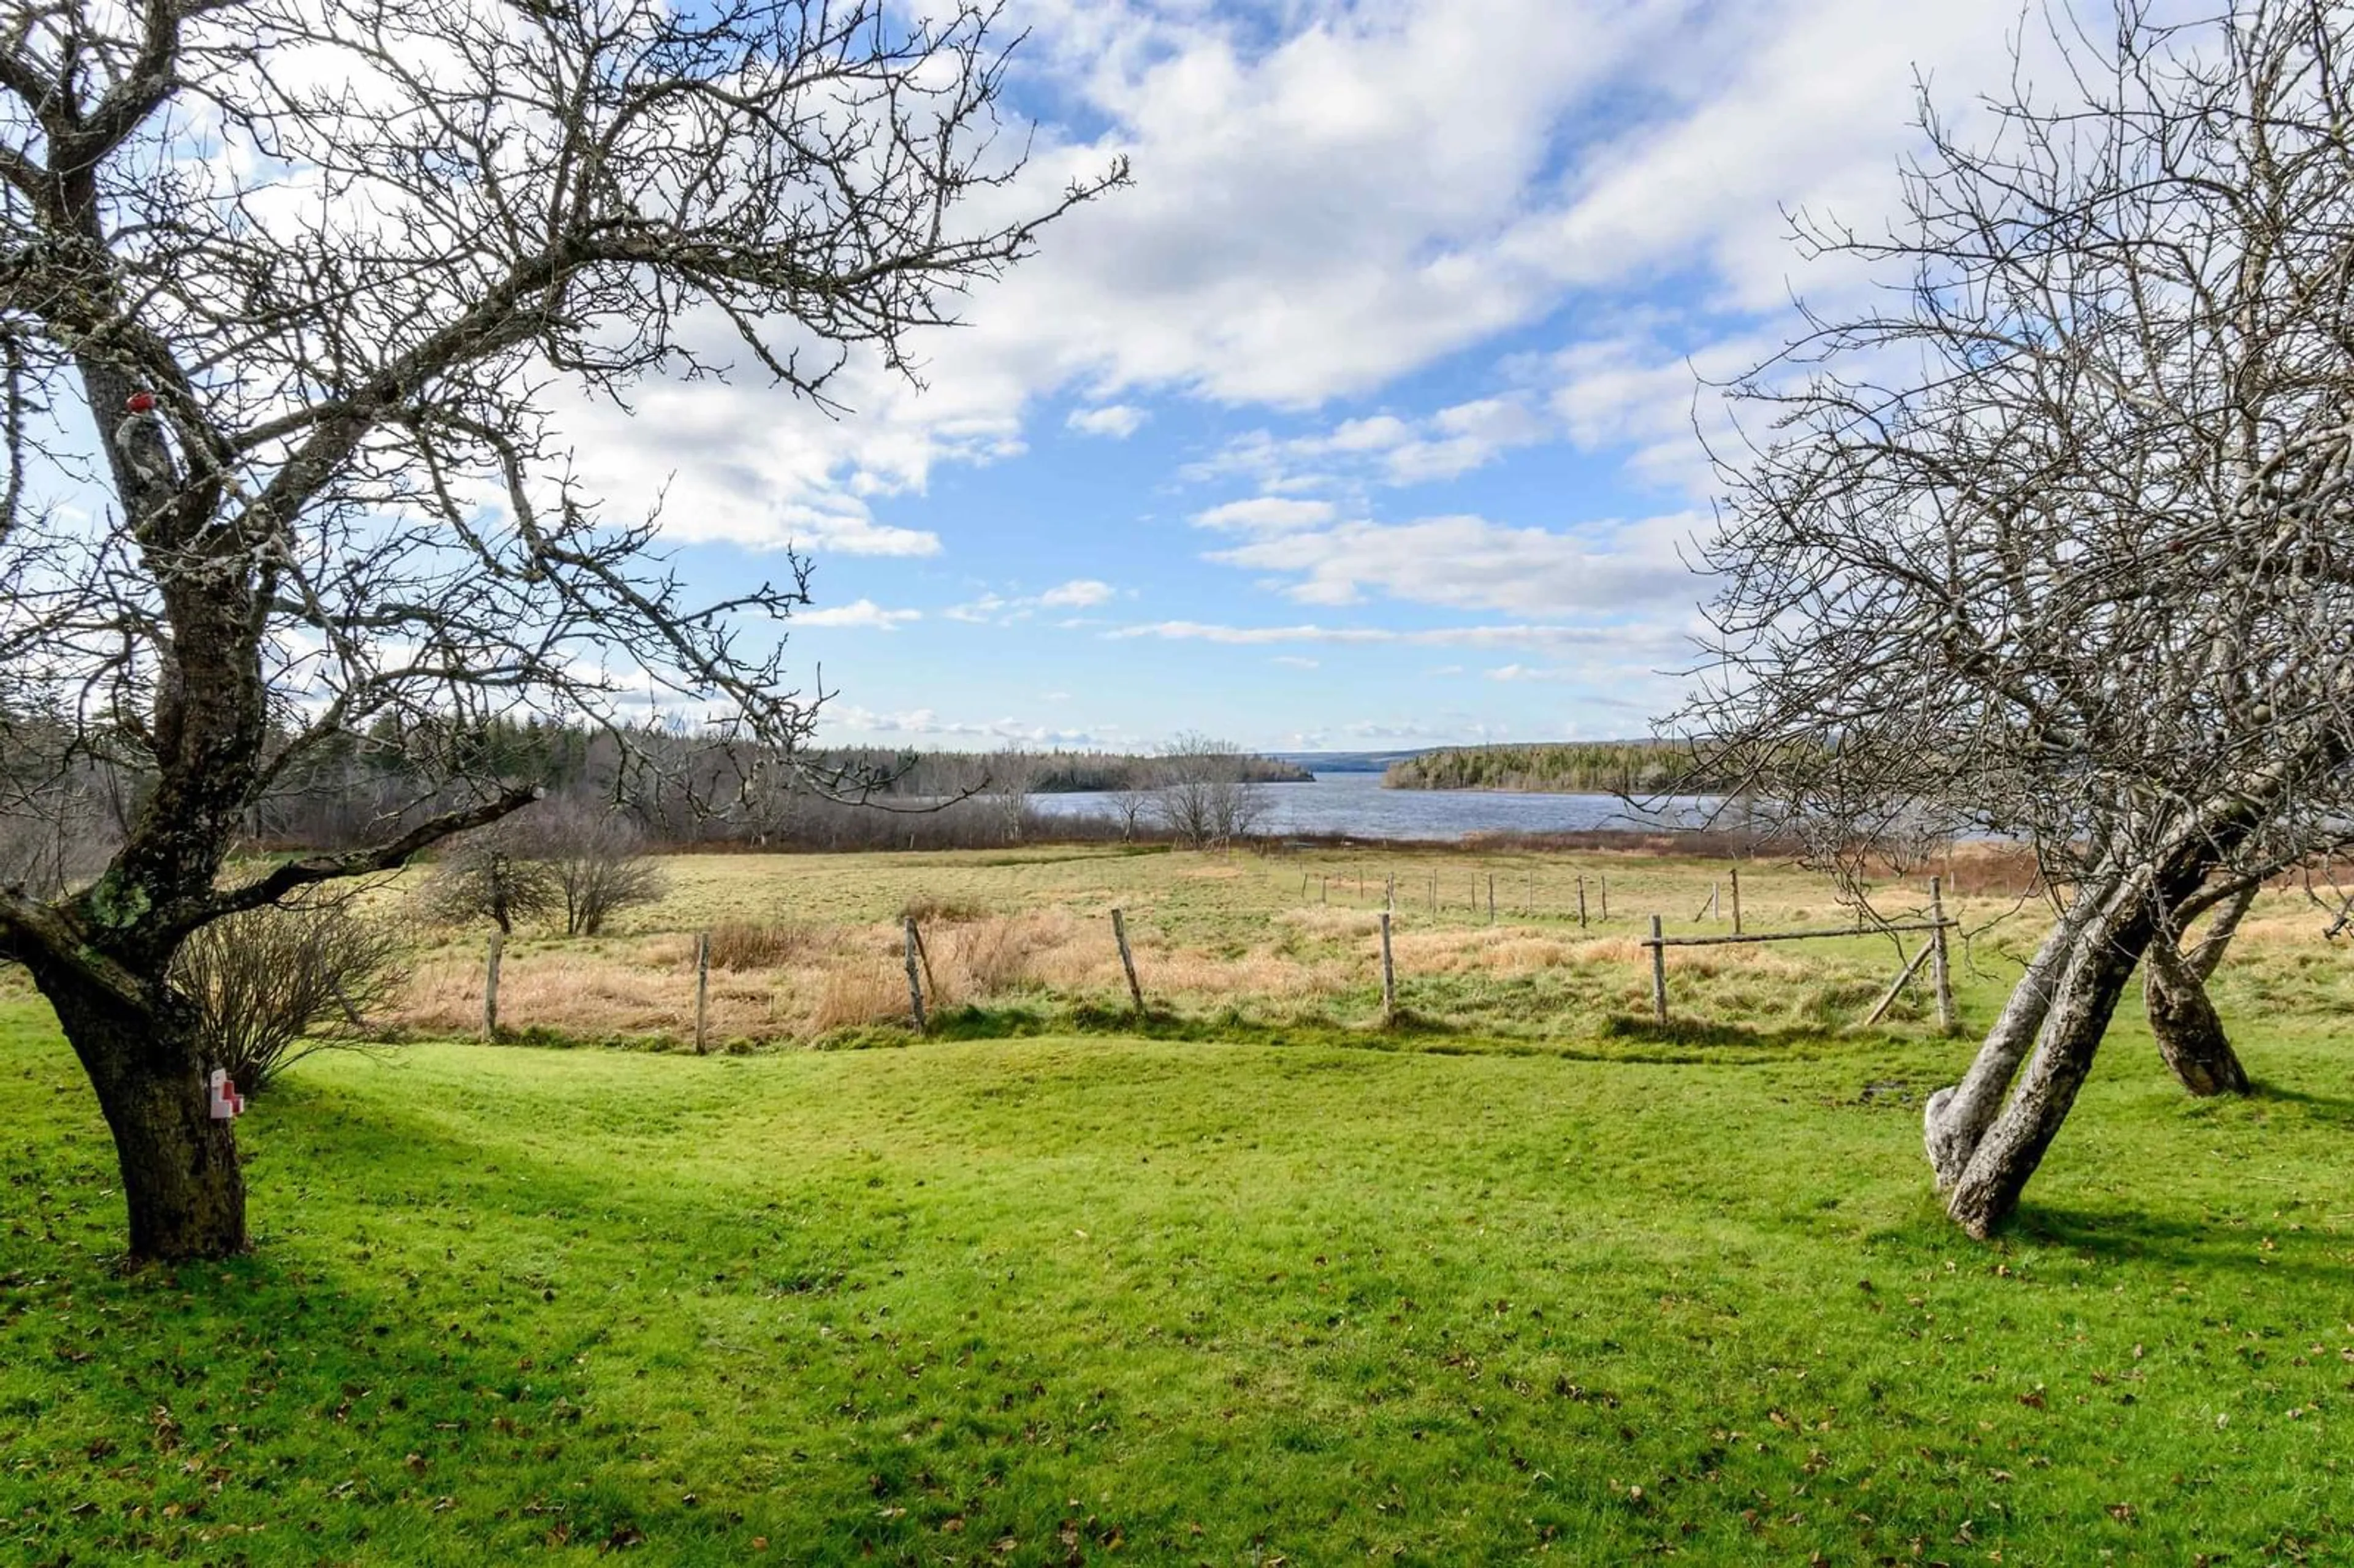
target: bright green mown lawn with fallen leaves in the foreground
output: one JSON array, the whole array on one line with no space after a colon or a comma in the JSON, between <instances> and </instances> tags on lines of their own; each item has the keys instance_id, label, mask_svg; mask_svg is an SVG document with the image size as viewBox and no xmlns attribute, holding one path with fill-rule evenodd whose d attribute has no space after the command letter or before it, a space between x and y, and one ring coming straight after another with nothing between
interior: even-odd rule
<instances>
[{"instance_id":1,"label":"bright green mown lawn with fallen leaves in the foreground","mask_svg":"<svg viewBox=\"0 0 2354 1568\"><path fill-rule=\"evenodd\" d=\"M1963 1043L417 1045L125 1276L19 989L0 1561L2354 1561L2330 1034L2192 1104L2121 1026L1994 1248Z\"/></svg>"}]
</instances>

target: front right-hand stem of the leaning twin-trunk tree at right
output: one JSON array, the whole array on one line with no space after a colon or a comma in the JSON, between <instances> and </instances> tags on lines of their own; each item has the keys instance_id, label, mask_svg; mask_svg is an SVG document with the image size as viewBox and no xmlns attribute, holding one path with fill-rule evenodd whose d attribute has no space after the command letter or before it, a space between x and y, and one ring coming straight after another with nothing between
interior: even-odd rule
<instances>
[{"instance_id":1,"label":"front right-hand stem of the leaning twin-trunk tree at right","mask_svg":"<svg viewBox=\"0 0 2354 1568\"><path fill-rule=\"evenodd\" d=\"M2112 899L2069 944L2067 968L2050 994L2034 1057L2003 1114L1987 1128L1970 1163L1947 1194L1944 1210L1963 1231L1984 1241L2020 1203L2027 1180L2076 1104L2093 1071L2100 1036L2156 930L2147 892ZM2041 958L2041 954L2039 954Z\"/></svg>"}]
</instances>

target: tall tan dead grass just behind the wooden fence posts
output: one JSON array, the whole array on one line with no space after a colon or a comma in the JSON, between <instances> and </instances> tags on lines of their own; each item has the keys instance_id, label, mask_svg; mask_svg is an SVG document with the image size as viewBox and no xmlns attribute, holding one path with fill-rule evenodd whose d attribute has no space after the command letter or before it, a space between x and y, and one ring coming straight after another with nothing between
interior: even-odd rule
<instances>
[{"instance_id":1,"label":"tall tan dead grass just behind the wooden fence posts","mask_svg":"<svg viewBox=\"0 0 2354 1568\"><path fill-rule=\"evenodd\" d=\"M892 876L904 871L906 881L897 885L890 876L878 878L873 866L829 864L796 881L791 899L777 897L767 876L774 862L753 869L763 876L739 878L742 885L697 885L701 902L683 902L673 911L685 930L511 942L501 1022L579 1038L690 1036L690 932L716 913L730 916L709 928L709 1026L720 1043L812 1041L836 1029L904 1019L902 921L909 913L918 916L925 942L923 986L932 1010L1125 1005L1128 986L1104 913L1111 904L1128 911L1137 975L1153 1005L1179 1012L1233 1008L1269 1017L1330 1012L1339 998L1363 1001L1379 984L1377 902L1387 871L1368 873L1370 906L1349 906L1311 902L1318 892L1290 869L1266 873L1243 857L1208 864L1163 864L1153 857L1073 869L1059 862L885 866ZM838 871L838 885L824 883L826 871ZM911 885L916 876L932 888ZM1568 885L1561 869L1547 876ZM1612 864L1610 883L1612 897L1636 909L1688 909L1716 876L1716 866L1629 859ZM1808 913L1824 897L1817 881L1766 871L1751 885L1744 873L1744 890L1756 925L1822 923L1820 913ZM1455 909L1445 916L1401 909L1394 928L1398 977L1408 994L1419 986L1415 1005L1471 1029L1507 1031L1645 1010L1650 956L1627 930L1624 913L1610 935L1589 935L1558 918L1561 888L1544 892L1547 916L1530 923L1504 918L1490 925L1464 921ZM2243 935L2250 968L2272 946L2276 923L2300 921L2269 897ZM2298 937L2309 942L2302 930ZM1843 1008L1850 991L1876 991L1893 972L1893 951L1883 963L1878 951L1834 956L1820 944L1669 951L1676 1010L1725 1019L1787 1017L1794 1010L1829 1017L1829 1008ZM480 949L468 942L424 951L393 1015L421 1034L478 1031Z\"/></svg>"}]
</instances>

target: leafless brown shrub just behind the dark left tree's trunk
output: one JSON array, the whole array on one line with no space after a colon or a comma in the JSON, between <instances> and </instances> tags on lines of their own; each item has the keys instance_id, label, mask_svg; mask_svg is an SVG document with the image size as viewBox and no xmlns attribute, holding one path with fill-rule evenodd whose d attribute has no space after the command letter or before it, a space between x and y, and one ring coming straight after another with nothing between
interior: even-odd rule
<instances>
[{"instance_id":1,"label":"leafless brown shrub just behind the dark left tree's trunk","mask_svg":"<svg viewBox=\"0 0 2354 1568\"><path fill-rule=\"evenodd\" d=\"M313 1050L320 1019L358 1024L400 984L398 937L341 904L247 909L200 928L172 961L172 984L195 1003L205 1059L238 1092L259 1095Z\"/></svg>"}]
</instances>

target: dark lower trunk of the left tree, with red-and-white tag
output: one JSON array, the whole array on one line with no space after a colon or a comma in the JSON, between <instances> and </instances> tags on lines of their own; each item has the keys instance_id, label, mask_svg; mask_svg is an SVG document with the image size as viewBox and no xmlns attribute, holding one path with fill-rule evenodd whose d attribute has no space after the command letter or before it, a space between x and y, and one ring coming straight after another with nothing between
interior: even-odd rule
<instances>
[{"instance_id":1,"label":"dark lower trunk of the left tree, with red-and-white tag","mask_svg":"<svg viewBox=\"0 0 2354 1568\"><path fill-rule=\"evenodd\" d=\"M238 1137L212 1121L207 1064L184 1003L146 1008L42 977L115 1135L134 1260L233 1257L245 1243Z\"/></svg>"}]
</instances>

